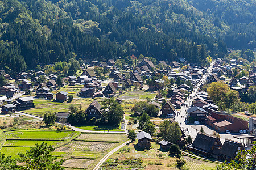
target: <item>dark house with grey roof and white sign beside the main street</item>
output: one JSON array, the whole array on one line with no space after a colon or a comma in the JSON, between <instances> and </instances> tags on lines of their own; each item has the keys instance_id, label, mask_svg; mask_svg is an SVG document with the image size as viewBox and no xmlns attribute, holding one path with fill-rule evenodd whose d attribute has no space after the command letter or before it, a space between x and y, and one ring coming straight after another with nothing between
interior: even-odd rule
<instances>
[{"instance_id":1,"label":"dark house with grey roof and white sign beside the main street","mask_svg":"<svg viewBox=\"0 0 256 170\"><path fill-rule=\"evenodd\" d=\"M207 111L205 109L193 106L192 108L187 109L188 118L193 118L195 120L198 120L200 122L205 121L205 117L207 116Z\"/></svg>"}]
</instances>

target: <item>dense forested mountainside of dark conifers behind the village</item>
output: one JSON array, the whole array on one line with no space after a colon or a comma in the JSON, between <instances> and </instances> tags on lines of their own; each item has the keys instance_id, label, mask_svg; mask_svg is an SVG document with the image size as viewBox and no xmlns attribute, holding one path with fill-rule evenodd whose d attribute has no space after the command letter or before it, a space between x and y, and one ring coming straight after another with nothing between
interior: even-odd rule
<instances>
[{"instance_id":1,"label":"dense forested mountainside of dark conifers behind the village","mask_svg":"<svg viewBox=\"0 0 256 170\"><path fill-rule=\"evenodd\" d=\"M3 0L0 68L131 55L207 65L228 48L255 47L255 1Z\"/></svg>"}]
</instances>

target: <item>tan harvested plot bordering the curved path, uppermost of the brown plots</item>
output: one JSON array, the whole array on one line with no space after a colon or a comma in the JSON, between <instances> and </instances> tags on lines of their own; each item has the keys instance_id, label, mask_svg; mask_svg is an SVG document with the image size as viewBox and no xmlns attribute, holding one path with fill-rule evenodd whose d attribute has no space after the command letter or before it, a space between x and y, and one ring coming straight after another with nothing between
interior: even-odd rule
<instances>
[{"instance_id":1,"label":"tan harvested plot bordering the curved path, uppermost of the brown plots","mask_svg":"<svg viewBox=\"0 0 256 170\"><path fill-rule=\"evenodd\" d=\"M86 141L105 141L105 142L124 142L127 140L126 134L93 134L84 133L81 134L77 139Z\"/></svg>"}]
</instances>

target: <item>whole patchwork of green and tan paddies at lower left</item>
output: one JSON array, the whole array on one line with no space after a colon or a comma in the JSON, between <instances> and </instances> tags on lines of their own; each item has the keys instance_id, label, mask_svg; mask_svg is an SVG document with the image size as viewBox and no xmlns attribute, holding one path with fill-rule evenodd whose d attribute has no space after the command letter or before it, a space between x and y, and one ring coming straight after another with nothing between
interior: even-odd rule
<instances>
[{"instance_id":1,"label":"whole patchwork of green and tan paddies at lower left","mask_svg":"<svg viewBox=\"0 0 256 170\"><path fill-rule=\"evenodd\" d=\"M0 130L0 152L19 158L36 143L46 142L55 150L52 155L64 159L67 169L93 169L110 150L127 141L126 134L94 134L76 131Z\"/></svg>"}]
</instances>

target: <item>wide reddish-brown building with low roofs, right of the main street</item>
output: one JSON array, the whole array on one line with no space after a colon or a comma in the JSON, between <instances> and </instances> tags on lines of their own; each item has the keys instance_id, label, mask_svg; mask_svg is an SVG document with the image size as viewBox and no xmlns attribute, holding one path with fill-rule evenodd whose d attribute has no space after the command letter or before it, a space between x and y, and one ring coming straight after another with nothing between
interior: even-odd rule
<instances>
[{"instance_id":1,"label":"wide reddish-brown building with low roofs, right of the main street","mask_svg":"<svg viewBox=\"0 0 256 170\"><path fill-rule=\"evenodd\" d=\"M206 117L206 124L219 132L229 130L231 132L238 132L240 129L248 129L248 123L241 118L234 117L228 113L217 112L209 109L209 115Z\"/></svg>"}]
</instances>

